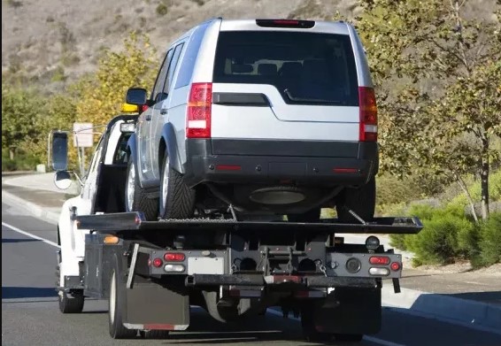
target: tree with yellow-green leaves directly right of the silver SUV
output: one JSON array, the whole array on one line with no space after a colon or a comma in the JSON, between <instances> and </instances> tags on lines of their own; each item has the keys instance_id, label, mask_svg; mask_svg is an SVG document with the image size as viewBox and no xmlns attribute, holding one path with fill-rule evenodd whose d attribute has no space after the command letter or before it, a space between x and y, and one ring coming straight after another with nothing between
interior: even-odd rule
<instances>
[{"instance_id":1,"label":"tree with yellow-green leaves directly right of the silver SUV","mask_svg":"<svg viewBox=\"0 0 501 346\"><path fill-rule=\"evenodd\" d=\"M466 20L468 0L361 4L357 27L377 86L382 170L445 174L459 183L478 173L486 218L489 142L499 124L499 22Z\"/></svg>"}]
</instances>

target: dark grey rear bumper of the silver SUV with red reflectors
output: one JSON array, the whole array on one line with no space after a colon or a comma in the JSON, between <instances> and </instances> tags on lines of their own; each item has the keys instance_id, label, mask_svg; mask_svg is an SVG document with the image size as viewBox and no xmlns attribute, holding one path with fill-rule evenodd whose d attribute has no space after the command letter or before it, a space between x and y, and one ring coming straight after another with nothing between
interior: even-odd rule
<instances>
[{"instance_id":1,"label":"dark grey rear bumper of the silver SUV with red reflectors","mask_svg":"<svg viewBox=\"0 0 501 346\"><path fill-rule=\"evenodd\" d=\"M252 151L258 155L249 155ZM375 142L188 140L184 168L190 187L205 181L359 185L377 173L378 147Z\"/></svg>"}]
</instances>

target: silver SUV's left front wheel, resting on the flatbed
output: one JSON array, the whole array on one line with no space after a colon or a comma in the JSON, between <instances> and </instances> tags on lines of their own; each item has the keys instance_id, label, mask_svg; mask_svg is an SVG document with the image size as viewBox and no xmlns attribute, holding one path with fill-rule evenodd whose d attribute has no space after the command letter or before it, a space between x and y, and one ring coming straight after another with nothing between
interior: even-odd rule
<instances>
[{"instance_id":1,"label":"silver SUV's left front wheel, resting on the flatbed","mask_svg":"<svg viewBox=\"0 0 501 346\"><path fill-rule=\"evenodd\" d=\"M125 209L126 211L143 211L144 217L148 221L155 221L157 219L157 201L148 198L143 188L139 185L139 177L136 174L132 158L129 158L127 165Z\"/></svg>"}]
</instances>

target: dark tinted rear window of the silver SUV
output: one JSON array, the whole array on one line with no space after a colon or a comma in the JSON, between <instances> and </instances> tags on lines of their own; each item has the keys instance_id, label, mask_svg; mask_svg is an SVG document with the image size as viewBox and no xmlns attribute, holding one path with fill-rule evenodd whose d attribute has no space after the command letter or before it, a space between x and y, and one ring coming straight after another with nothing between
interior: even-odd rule
<instances>
[{"instance_id":1,"label":"dark tinted rear window of the silver SUV","mask_svg":"<svg viewBox=\"0 0 501 346\"><path fill-rule=\"evenodd\" d=\"M348 35L220 32L212 81L272 84L288 104L358 105Z\"/></svg>"}]
</instances>

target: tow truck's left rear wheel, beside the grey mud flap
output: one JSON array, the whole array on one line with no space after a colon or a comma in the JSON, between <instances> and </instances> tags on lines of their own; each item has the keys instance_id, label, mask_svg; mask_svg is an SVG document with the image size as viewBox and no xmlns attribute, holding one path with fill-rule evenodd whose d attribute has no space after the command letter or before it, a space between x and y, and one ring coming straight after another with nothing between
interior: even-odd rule
<instances>
[{"instance_id":1,"label":"tow truck's left rear wheel, beside the grey mud flap","mask_svg":"<svg viewBox=\"0 0 501 346\"><path fill-rule=\"evenodd\" d=\"M126 287L122 282L119 270L119 259L115 256L112 275L110 277L110 299L108 311L108 327L113 339L130 339L135 337L135 329L127 329L123 325L123 309L126 300Z\"/></svg>"}]
</instances>

